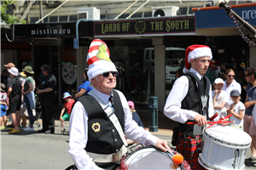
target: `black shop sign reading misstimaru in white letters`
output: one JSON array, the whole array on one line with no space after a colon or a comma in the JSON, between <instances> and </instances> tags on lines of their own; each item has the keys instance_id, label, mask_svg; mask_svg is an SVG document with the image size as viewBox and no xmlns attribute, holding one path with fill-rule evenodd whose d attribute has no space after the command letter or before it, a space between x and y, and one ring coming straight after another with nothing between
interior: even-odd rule
<instances>
[{"instance_id":1,"label":"black shop sign reading misstimaru in white letters","mask_svg":"<svg viewBox=\"0 0 256 170\"><path fill-rule=\"evenodd\" d=\"M90 37L92 21L79 24L79 36ZM22 24L15 26L15 38L20 37L76 37L76 22Z\"/></svg>"}]
</instances>

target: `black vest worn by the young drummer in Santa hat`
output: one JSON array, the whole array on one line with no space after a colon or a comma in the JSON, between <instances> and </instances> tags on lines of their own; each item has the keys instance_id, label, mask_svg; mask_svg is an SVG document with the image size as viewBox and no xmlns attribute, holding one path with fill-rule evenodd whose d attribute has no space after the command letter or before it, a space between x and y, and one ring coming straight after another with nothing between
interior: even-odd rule
<instances>
[{"instance_id":1,"label":"black vest worn by the young drummer in Santa hat","mask_svg":"<svg viewBox=\"0 0 256 170\"><path fill-rule=\"evenodd\" d=\"M190 110L190 111L195 111L201 115L203 115L203 111L202 111L202 105L201 105L201 97L200 97L200 93L199 93L199 88L197 88L196 85L196 75L194 77L195 74L193 73L189 73L186 74L185 76L189 79L189 91L188 94L186 95L186 97L183 99L182 101L182 106L181 109L185 109L185 110ZM193 77L192 77L193 76ZM197 78L199 81L199 78ZM208 105L209 105L209 89L210 89L210 81L207 77L203 77L204 80L204 84L205 87L202 88L204 94L208 97L207 99L207 106L205 107L206 112L207 112L207 120L209 119L208 117ZM198 84L201 82L198 82ZM195 122L195 121L187 121L187 122ZM192 136L193 135L193 127L194 125L188 125L187 122L185 123L179 123L179 131L181 133L187 134L188 136Z\"/></svg>"}]
</instances>

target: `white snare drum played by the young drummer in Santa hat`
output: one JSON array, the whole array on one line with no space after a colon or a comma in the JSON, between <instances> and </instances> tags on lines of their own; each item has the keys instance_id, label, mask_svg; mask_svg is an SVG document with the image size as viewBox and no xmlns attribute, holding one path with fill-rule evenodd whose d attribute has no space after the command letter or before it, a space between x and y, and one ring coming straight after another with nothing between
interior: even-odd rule
<instances>
[{"instance_id":1,"label":"white snare drum played by the young drummer in Santa hat","mask_svg":"<svg viewBox=\"0 0 256 170\"><path fill-rule=\"evenodd\" d=\"M216 125L207 128L198 161L207 169L243 169L251 137L234 127Z\"/></svg>"}]
</instances>

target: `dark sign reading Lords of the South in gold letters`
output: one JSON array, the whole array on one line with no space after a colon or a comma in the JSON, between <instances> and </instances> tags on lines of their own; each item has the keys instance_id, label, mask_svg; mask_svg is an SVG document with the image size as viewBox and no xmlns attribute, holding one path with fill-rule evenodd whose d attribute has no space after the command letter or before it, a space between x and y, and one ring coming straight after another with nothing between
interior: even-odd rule
<instances>
[{"instance_id":1,"label":"dark sign reading Lords of the South in gold letters","mask_svg":"<svg viewBox=\"0 0 256 170\"><path fill-rule=\"evenodd\" d=\"M94 36L195 33L195 16L94 22Z\"/></svg>"}]
</instances>

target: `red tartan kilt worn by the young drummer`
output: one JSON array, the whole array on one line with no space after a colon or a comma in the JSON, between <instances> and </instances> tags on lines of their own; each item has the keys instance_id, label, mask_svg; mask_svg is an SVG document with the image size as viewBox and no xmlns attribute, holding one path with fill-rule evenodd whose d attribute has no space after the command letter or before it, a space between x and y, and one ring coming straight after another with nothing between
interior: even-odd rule
<instances>
[{"instance_id":1,"label":"red tartan kilt worn by the young drummer","mask_svg":"<svg viewBox=\"0 0 256 170\"><path fill-rule=\"evenodd\" d=\"M184 160L188 161L192 170L205 170L204 167L201 167L201 164L198 162L199 153L197 148L201 146L201 136L184 137L183 133L178 133L178 143L176 146L177 152L179 152Z\"/></svg>"}]
</instances>

